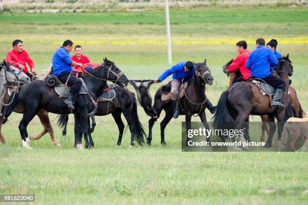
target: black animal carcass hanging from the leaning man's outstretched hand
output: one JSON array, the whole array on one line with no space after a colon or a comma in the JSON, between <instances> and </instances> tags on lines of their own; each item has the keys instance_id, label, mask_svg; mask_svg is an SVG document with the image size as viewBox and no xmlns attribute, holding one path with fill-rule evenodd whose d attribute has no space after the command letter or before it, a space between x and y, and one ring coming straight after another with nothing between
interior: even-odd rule
<instances>
[{"instance_id":1,"label":"black animal carcass hanging from the leaning man's outstretched hand","mask_svg":"<svg viewBox=\"0 0 308 205\"><path fill-rule=\"evenodd\" d=\"M154 80L129 80L129 83L135 88L138 102L146 115L156 117L157 113L152 107L152 98L149 93L149 88L154 83Z\"/></svg>"}]
</instances>

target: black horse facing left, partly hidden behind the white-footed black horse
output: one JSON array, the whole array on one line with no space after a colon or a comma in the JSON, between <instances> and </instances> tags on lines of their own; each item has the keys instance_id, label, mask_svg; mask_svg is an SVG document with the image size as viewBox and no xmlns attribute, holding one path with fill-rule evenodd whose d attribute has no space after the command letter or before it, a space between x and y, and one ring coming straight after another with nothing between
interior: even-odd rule
<instances>
[{"instance_id":1,"label":"black horse facing left, partly hidden behind the white-footed black horse","mask_svg":"<svg viewBox=\"0 0 308 205\"><path fill-rule=\"evenodd\" d=\"M139 145L144 143L144 137L146 134L144 129L139 121L138 113L137 113L137 104L134 93L130 92L126 88L122 88L119 86L113 87L116 96L112 100L112 102L108 101L99 101L98 108L96 111L96 116L106 116L111 114L113 119L115 120L118 129L119 129L119 138L117 142L117 146L121 146L122 136L124 132L124 124L121 119L121 114L123 113L130 130L130 146L134 146L134 140L137 141ZM58 125L60 127L64 127L62 134L66 135L66 126L68 121L68 115L61 115L58 119ZM92 118L92 129L91 132L94 131L94 127L96 126L94 118Z\"/></svg>"}]
</instances>

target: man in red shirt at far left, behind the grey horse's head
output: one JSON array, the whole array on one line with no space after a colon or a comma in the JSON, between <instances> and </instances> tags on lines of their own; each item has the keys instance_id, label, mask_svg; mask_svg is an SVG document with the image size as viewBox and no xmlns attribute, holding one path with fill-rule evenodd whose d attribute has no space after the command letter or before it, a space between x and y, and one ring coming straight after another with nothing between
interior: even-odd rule
<instances>
[{"instance_id":1,"label":"man in red shirt at far left, behind the grey horse's head","mask_svg":"<svg viewBox=\"0 0 308 205\"><path fill-rule=\"evenodd\" d=\"M24 44L21 40L13 41L13 50L7 53L6 61L22 70L30 79L32 79L33 75L36 75L34 62L24 50ZM33 75L29 73L26 63L28 63Z\"/></svg>"}]
</instances>

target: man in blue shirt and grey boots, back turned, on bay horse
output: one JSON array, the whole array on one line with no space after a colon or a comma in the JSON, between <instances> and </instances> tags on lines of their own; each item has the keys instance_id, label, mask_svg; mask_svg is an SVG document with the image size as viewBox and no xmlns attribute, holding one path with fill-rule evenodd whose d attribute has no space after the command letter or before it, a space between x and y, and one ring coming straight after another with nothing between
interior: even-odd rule
<instances>
[{"instance_id":1,"label":"man in blue shirt and grey boots, back turned, on bay horse","mask_svg":"<svg viewBox=\"0 0 308 205\"><path fill-rule=\"evenodd\" d=\"M261 78L276 88L272 99L272 106L285 108L280 102L286 83L278 76L270 72L270 67L276 67L278 60L271 49L265 47L263 38L257 39L256 49L252 51L246 62L246 67L251 70L252 77Z\"/></svg>"}]
</instances>

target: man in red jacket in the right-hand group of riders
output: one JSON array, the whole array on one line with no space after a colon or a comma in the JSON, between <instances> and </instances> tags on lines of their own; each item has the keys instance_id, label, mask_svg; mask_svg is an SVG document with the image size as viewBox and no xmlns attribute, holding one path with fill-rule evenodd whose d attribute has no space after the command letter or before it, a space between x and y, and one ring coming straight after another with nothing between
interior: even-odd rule
<instances>
[{"instance_id":1,"label":"man in red jacket in the right-hand group of riders","mask_svg":"<svg viewBox=\"0 0 308 205\"><path fill-rule=\"evenodd\" d=\"M241 76L236 78L233 83L235 82L242 82L247 81L248 78L251 76L250 70L246 68L246 61L248 60L249 54L251 51L247 50L247 43L246 41L239 41L237 43L237 50L239 55L234 59L234 61L229 66L229 72L235 72L238 68L240 69Z\"/></svg>"}]
</instances>

